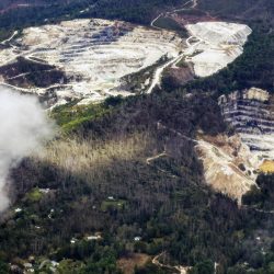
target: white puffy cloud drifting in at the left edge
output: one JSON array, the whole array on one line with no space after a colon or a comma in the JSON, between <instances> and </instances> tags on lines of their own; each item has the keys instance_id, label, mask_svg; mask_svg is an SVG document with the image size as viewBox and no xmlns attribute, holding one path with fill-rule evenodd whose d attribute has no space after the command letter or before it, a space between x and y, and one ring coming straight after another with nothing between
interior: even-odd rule
<instances>
[{"instance_id":1,"label":"white puffy cloud drifting in at the left edge","mask_svg":"<svg viewBox=\"0 0 274 274\"><path fill-rule=\"evenodd\" d=\"M9 206L9 171L53 137L53 124L34 96L0 88L0 212Z\"/></svg>"}]
</instances>

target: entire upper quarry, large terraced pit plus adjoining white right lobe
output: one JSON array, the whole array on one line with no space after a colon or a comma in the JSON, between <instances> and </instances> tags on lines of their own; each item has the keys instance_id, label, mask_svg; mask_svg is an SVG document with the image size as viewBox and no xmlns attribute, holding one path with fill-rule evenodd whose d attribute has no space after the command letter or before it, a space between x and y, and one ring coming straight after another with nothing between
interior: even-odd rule
<instances>
[{"instance_id":1,"label":"entire upper quarry, large terraced pit plus adjoining white right lobe","mask_svg":"<svg viewBox=\"0 0 274 274\"><path fill-rule=\"evenodd\" d=\"M0 83L39 95L46 107L110 95L150 93L168 67L185 59L196 76L209 76L242 53L247 25L203 22L186 26L186 41L171 31L100 19L25 28L0 47ZM138 78L139 90L129 89ZM134 85L136 87L136 85Z\"/></svg>"}]
</instances>

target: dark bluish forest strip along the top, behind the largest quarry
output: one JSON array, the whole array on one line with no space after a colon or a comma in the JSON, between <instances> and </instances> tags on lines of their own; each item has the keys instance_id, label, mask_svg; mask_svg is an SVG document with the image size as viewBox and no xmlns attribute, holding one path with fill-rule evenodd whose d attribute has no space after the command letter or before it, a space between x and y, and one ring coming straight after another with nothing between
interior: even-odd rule
<instances>
[{"instance_id":1,"label":"dark bluish forest strip along the top, behind the largest quarry","mask_svg":"<svg viewBox=\"0 0 274 274\"><path fill-rule=\"evenodd\" d=\"M43 2L43 1L42 1ZM184 4L185 0L72 0L44 1L44 5L12 9L0 13L0 39L12 30L76 18L105 18L149 24L158 12ZM45 4L46 3L46 4Z\"/></svg>"}]
</instances>

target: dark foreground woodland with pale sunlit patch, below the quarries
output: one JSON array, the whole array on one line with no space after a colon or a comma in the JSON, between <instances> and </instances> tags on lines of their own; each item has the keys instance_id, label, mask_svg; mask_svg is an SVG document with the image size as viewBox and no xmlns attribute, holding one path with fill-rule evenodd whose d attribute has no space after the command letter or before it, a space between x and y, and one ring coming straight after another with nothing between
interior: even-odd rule
<instances>
[{"instance_id":1,"label":"dark foreground woodland with pale sunlit patch, below the quarries","mask_svg":"<svg viewBox=\"0 0 274 274\"><path fill-rule=\"evenodd\" d=\"M25 159L13 170L12 193L22 212L9 213L1 225L3 263L23 265L34 256L37 273L50 273L46 259L60 262L60 273L119 273L121 258L167 252L163 263L194 265L191 273L213 273L203 270L215 262L218 273L272 273L272 176L261 176L261 192L250 193L249 206L238 208L206 186L194 144L172 130L190 137L197 129L225 132L215 100L158 91L111 98L69 114L71 107L53 114L66 129L62 140L49 145L56 158ZM80 124L67 126L81 117ZM165 157L148 163L163 149ZM61 164L66 151L75 157L69 169ZM98 231L100 240L87 240ZM256 242L256 233L265 242ZM169 273L150 263L135 272Z\"/></svg>"}]
</instances>

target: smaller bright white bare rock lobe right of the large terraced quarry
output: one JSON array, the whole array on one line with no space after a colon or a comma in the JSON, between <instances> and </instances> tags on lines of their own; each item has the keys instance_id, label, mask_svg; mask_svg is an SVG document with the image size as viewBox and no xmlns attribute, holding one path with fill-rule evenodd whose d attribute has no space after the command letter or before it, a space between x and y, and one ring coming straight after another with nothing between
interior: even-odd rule
<instances>
[{"instance_id":1,"label":"smaller bright white bare rock lobe right of the large terraced quarry","mask_svg":"<svg viewBox=\"0 0 274 274\"><path fill-rule=\"evenodd\" d=\"M210 76L232 62L242 54L242 46L252 32L248 25L225 22L201 22L186 28L199 41L195 45L198 54L193 53L189 58L198 77Z\"/></svg>"}]
</instances>

